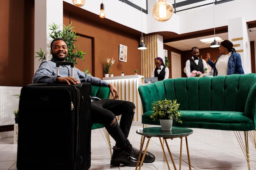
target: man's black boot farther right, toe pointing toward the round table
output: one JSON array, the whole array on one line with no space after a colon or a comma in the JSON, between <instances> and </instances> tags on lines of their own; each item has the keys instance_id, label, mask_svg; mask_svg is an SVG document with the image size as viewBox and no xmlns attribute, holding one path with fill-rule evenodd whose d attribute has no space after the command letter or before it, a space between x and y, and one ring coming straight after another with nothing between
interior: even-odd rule
<instances>
[{"instance_id":1,"label":"man's black boot farther right, toe pointing toward the round table","mask_svg":"<svg viewBox=\"0 0 256 170\"><path fill-rule=\"evenodd\" d=\"M132 150L124 151L124 153L126 154L126 156L130 156L130 157L132 157L136 160L138 160L138 158L139 158L139 150L136 149L136 148L132 147ZM142 158L143 153L144 153L144 151L141 152L140 160ZM152 163L154 161L155 161L155 156L150 152L146 152L146 155L145 155L145 158L144 158L143 162L144 163Z\"/></svg>"}]
</instances>

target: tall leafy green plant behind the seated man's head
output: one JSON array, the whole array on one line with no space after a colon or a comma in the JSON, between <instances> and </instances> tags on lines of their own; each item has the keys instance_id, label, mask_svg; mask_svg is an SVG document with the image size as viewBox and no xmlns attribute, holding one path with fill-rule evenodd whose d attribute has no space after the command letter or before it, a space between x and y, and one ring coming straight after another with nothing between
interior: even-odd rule
<instances>
[{"instance_id":1,"label":"tall leafy green plant behind the seated man's head","mask_svg":"<svg viewBox=\"0 0 256 170\"><path fill-rule=\"evenodd\" d=\"M60 29L60 25L56 25L56 24L50 24L49 25L49 30L51 30L52 32L49 33L49 36L52 39L55 38L63 38L63 40L65 40L66 44L67 44L67 51L68 51L68 57L66 59L67 62L74 62L75 64L77 59L82 59L84 60L83 55L87 54L87 53L83 53L83 51L81 50L76 50L76 46L75 46L75 42L77 42L77 38L79 38L79 35L76 35L76 32L73 30L75 27L71 27L70 23L68 26L65 26L63 24L63 30L59 30ZM43 53L42 49L40 48L39 52L36 52L36 54L38 56L35 57L39 57L39 61L43 62L43 60L46 60L45 54Z\"/></svg>"}]
</instances>

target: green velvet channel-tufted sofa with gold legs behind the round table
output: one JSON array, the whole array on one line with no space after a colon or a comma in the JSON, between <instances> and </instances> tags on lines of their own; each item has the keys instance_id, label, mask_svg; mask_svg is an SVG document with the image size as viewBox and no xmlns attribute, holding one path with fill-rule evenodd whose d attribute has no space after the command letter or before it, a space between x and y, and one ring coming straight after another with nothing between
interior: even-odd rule
<instances>
[{"instance_id":1,"label":"green velvet channel-tufted sofa with gold legs behind the round table","mask_svg":"<svg viewBox=\"0 0 256 170\"><path fill-rule=\"evenodd\" d=\"M173 126L243 131L245 157L249 168L248 131L253 130L252 141L255 144L255 84L256 74L249 73L181 77L139 86L143 107L142 123L160 125L159 121L150 118L153 114L153 101L177 99L177 103L180 103L182 124L173 121Z\"/></svg>"}]
</instances>

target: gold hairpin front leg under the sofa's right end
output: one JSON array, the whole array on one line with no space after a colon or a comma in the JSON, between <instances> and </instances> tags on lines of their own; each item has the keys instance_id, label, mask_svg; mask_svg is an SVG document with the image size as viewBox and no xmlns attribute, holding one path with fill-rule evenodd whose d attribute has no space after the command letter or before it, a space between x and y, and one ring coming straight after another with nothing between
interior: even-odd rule
<instances>
[{"instance_id":1,"label":"gold hairpin front leg under the sofa's right end","mask_svg":"<svg viewBox=\"0 0 256 170\"><path fill-rule=\"evenodd\" d=\"M234 131L235 135L236 135L236 139L238 140L238 143L245 155L245 159L247 160L247 166L248 166L248 170L251 170L250 167L250 156L249 156L249 145L248 145L248 131L244 131L244 139L245 141L243 141L243 138L240 134L239 131ZM255 137L255 136L254 136Z\"/></svg>"}]
</instances>

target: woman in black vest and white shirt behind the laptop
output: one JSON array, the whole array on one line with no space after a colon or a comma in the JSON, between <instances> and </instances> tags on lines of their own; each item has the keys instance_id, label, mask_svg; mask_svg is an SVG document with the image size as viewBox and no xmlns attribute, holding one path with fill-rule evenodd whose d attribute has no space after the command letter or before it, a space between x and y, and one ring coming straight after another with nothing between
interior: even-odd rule
<instances>
[{"instance_id":1,"label":"woman in black vest and white shirt behind the laptop","mask_svg":"<svg viewBox=\"0 0 256 170\"><path fill-rule=\"evenodd\" d=\"M169 78L169 68L164 65L161 57L155 58L156 68L152 71L151 77L157 77L158 81Z\"/></svg>"}]
</instances>

